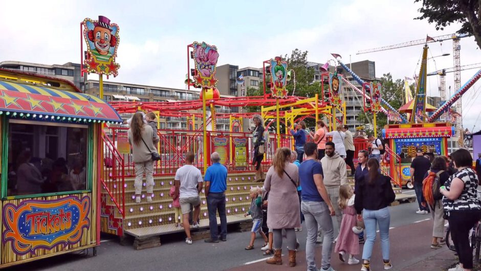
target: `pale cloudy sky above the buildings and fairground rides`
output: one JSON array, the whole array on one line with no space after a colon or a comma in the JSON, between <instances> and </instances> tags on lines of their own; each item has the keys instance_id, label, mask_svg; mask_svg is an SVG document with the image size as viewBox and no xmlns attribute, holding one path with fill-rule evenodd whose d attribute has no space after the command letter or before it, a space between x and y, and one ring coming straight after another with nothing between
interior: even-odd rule
<instances>
[{"instance_id":1,"label":"pale cloudy sky above the buildings and fairground rides","mask_svg":"<svg viewBox=\"0 0 481 271\"><path fill-rule=\"evenodd\" d=\"M119 75L109 80L129 84L185 88L186 46L206 41L218 48L217 65L261 67L263 60L292 50L309 51L308 60L326 62L338 53L345 63L376 62L376 76L394 79L419 72L422 46L359 54L363 49L455 33L459 25L436 31L427 20L414 20L413 0L351 1L6 1L0 9L0 62L41 64L80 62L80 22L104 15L120 27ZM428 72L453 67L452 41L429 45ZM481 62L474 37L461 39L461 65ZM476 70L461 73L463 85ZM97 79L96 75L89 78ZM454 93L453 73L446 89ZM438 96L438 76L427 81L428 95ZM463 96L463 123L481 130L477 82ZM476 126L475 126L476 125Z\"/></svg>"}]
</instances>

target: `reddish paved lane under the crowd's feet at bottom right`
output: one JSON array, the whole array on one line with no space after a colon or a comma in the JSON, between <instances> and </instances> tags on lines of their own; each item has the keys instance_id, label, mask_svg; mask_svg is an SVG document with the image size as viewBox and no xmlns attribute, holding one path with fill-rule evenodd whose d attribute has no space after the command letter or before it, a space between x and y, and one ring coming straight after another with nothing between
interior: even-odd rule
<instances>
[{"instance_id":1,"label":"reddish paved lane under the crowd's feet at bottom right","mask_svg":"<svg viewBox=\"0 0 481 271\"><path fill-rule=\"evenodd\" d=\"M448 267L456 263L454 253L446 246L440 249L430 248L432 220L414 223L398 228L392 228L389 231L390 239L390 256L393 268L390 270L418 271L418 270L447 270ZM316 264L320 268L320 245L316 249ZM362 253L362 245L361 245ZM305 247L300 247L297 253L297 266L289 267L287 257L288 251L282 251L282 265L270 265L265 260L231 268L232 271L252 271L252 270L306 270ZM259 250L259 259L262 257ZM356 256L361 259L361 255ZM359 271L361 264L347 265L342 263L337 254L332 254L332 266L336 271ZM382 264L381 248L379 234L373 249L373 257L371 258L371 270L384 270Z\"/></svg>"}]
</instances>

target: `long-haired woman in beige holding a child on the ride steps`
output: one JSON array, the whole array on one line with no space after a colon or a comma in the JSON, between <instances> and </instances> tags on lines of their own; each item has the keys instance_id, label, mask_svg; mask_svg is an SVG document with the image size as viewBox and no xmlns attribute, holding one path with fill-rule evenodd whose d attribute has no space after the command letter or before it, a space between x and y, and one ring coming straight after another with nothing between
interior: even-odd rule
<instances>
[{"instance_id":1,"label":"long-haired woman in beige holding a child on the ride steps","mask_svg":"<svg viewBox=\"0 0 481 271\"><path fill-rule=\"evenodd\" d=\"M147 188L147 202L152 201L152 193L154 193L154 161L152 160L152 152L156 152L154 135L152 127L144 122L141 113L135 113L130 121L130 129L127 132L128 143L132 146L132 154L135 163L135 202L140 203L142 192L142 177L145 173Z\"/></svg>"}]
</instances>

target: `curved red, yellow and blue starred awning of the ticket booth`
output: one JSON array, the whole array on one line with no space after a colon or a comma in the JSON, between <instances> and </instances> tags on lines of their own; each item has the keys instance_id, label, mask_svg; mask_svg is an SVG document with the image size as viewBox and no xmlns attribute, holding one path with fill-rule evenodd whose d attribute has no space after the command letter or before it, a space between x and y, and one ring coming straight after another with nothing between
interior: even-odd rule
<instances>
[{"instance_id":1,"label":"curved red, yellow and blue starred awning of the ticket booth","mask_svg":"<svg viewBox=\"0 0 481 271\"><path fill-rule=\"evenodd\" d=\"M0 111L105 122L122 121L117 111L95 96L8 80L0 80Z\"/></svg>"}]
</instances>

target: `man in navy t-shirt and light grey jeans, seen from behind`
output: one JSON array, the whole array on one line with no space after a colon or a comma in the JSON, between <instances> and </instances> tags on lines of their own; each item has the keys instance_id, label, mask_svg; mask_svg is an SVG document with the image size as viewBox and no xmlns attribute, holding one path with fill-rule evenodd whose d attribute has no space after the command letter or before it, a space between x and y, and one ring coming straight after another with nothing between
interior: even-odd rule
<instances>
[{"instance_id":1,"label":"man in navy t-shirt and light grey jeans, seen from behind","mask_svg":"<svg viewBox=\"0 0 481 271\"><path fill-rule=\"evenodd\" d=\"M334 226L331 216L335 215L335 210L324 186L322 165L317 161L317 144L314 142L306 143L304 151L306 159L299 166L299 181L302 185L301 210L308 230L305 259L308 270L317 270L314 256L317 225L319 225L324 233L321 270L333 270L331 253L333 250Z\"/></svg>"}]
</instances>

